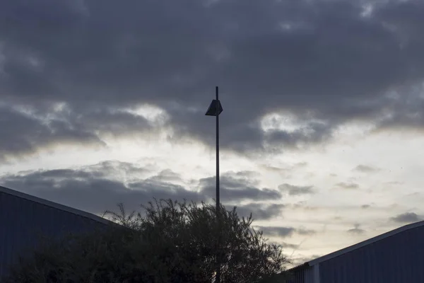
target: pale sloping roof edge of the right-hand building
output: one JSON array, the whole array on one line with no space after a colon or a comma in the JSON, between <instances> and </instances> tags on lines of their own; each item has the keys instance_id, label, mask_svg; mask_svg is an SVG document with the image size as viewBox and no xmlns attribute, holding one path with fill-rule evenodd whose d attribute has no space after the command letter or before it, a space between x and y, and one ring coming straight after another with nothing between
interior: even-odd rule
<instances>
[{"instance_id":1,"label":"pale sloping roof edge of the right-hand building","mask_svg":"<svg viewBox=\"0 0 424 283\"><path fill-rule=\"evenodd\" d=\"M310 260L309 262L305 262L305 264L308 264L310 266L317 265L320 262L324 262L326 260L331 260L332 258L336 258L339 255L349 253L353 250L357 250L358 248L363 248L364 246L368 246L368 245L375 243L377 241L381 241L384 238L389 238L389 237L394 236L398 233L408 231L410 229L415 229L415 228L420 227L420 226L424 226L424 221L418 221L418 222L415 222L415 223L412 223L412 224L407 224L405 226L401 226L397 229L388 231L386 233L382 233L379 236L375 236L375 237L369 238L368 240L365 240L363 242L356 243L355 245L348 246L347 248L342 248L341 250L336 250L335 252L329 253L328 255L323 255L322 257L315 258L314 260Z\"/></svg>"}]
</instances>

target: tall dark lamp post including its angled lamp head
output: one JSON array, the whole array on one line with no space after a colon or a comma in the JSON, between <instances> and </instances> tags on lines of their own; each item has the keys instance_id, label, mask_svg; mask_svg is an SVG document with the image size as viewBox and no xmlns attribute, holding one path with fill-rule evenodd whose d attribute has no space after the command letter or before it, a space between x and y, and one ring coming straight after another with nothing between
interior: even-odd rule
<instances>
[{"instance_id":1,"label":"tall dark lamp post including its angled lamp head","mask_svg":"<svg viewBox=\"0 0 424 283\"><path fill-rule=\"evenodd\" d=\"M216 116L216 220L218 223L218 245L216 256L216 283L220 283L221 265L220 265L220 195L219 195L219 115L223 112L223 108L219 101L218 86L215 87L216 99L212 100L206 111L206 116Z\"/></svg>"}]
</instances>

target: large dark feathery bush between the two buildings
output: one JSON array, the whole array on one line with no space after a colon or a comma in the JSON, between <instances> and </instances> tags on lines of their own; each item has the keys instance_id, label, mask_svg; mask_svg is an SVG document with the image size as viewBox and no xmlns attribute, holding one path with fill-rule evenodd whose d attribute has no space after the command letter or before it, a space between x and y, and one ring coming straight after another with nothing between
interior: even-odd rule
<instances>
[{"instance_id":1,"label":"large dark feathery bush between the two buildings","mask_svg":"<svg viewBox=\"0 0 424 283\"><path fill-rule=\"evenodd\" d=\"M252 215L240 218L225 207L219 215L218 226L210 204L161 200L131 214L119 204L118 213L105 213L119 226L47 245L21 260L6 282L207 283L217 255L225 283L260 282L284 270L281 247L251 228Z\"/></svg>"}]
</instances>

